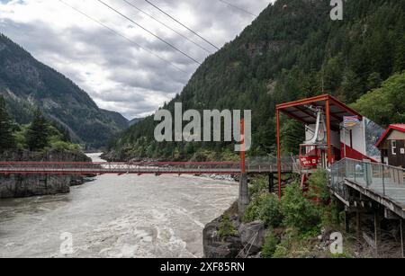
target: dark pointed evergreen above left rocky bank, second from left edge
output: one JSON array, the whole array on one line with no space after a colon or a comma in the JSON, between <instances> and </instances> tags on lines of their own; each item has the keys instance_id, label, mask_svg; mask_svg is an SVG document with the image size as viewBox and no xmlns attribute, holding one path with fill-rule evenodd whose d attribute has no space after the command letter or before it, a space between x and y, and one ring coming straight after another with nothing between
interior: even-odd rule
<instances>
[{"instance_id":1,"label":"dark pointed evergreen above left rocky bank, second from left edge","mask_svg":"<svg viewBox=\"0 0 405 276\"><path fill-rule=\"evenodd\" d=\"M27 145L31 151L42 150L49 146L49 122L40 109L34 112L34 118L27 130Z\"/></svg>"}]
</instances>

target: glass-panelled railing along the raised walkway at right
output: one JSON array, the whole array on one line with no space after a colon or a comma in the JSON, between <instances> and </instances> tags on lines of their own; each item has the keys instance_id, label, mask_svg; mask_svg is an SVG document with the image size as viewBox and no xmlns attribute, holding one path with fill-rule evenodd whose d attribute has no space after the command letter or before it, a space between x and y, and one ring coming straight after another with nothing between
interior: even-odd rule
<instances>
[{"instance_id":1,"label":"glass-panelled railing along the raised walkway at right","mask_svg":"<svg viewBox=\"0 0 405 276\"><path fill-rule=\"evenodd\" d=\"M344 181L356 183L405 204L405 169L368 161L343 159L331 166L331 188L344 195Z\"/></svg>"}]
</instances>

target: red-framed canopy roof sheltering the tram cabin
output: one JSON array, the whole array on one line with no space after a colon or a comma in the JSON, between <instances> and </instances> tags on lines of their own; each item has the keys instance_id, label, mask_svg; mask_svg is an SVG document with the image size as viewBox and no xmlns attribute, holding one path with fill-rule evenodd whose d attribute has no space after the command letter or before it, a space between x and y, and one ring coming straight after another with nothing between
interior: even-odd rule
<instances>
[{"instance_id":1,"label":"red-framed canopy roof sheltering the tram cabin","mask_svg":"<svg viewBox=\"0 0 405 276\"><path fill-rule=\"evenodd\" d=\"M301 121L306 125L315 124L317 115L311 111L312 107L321 107L326 112L326 105L329 102L330 127L338 130L340 124L346 116L357 116L359 120L363 120L363 116L357 111L348 107L345 103L339 102L335 97L325 94L317 97L304 99L296 102L287 102L277 105L277 110L293 118Z\"/></svg>"}]
</instances>

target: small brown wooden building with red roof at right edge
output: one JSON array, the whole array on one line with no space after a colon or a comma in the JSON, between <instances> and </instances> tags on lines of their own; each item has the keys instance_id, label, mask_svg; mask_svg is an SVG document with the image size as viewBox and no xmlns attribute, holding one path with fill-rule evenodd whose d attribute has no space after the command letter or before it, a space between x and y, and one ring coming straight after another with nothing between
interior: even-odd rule
<instances>
[{"instance_id":1,"label":"small brown wooden building with red roof at right edge","mask_svg":"<svg viewBox=\"0 0 405 276\"><path fill-rule=\"evenodd\" d=\"M405 168L405 124L391 125L376 146L381 150L382 163Z\"/></svg>"}]
</instances>

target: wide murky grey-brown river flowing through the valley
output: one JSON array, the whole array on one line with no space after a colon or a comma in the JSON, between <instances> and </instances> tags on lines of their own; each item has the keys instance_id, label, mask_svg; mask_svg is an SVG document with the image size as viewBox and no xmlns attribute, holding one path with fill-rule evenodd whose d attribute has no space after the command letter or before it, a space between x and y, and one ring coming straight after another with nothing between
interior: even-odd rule
<instances>
[{"instance_id":1,"label":"wide murky grey-brown river flowing through the valley","mask_svg":"<svg viewBox=\"0 0 405 276\"><path fill-rule=\"evenodd\" d=\"M202 257L202 228L237 196L236 183L193 176L102 175L0 200L0 257Z\"/></svg>"}]
</instances>

